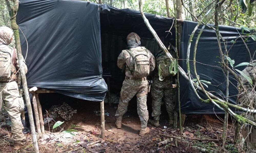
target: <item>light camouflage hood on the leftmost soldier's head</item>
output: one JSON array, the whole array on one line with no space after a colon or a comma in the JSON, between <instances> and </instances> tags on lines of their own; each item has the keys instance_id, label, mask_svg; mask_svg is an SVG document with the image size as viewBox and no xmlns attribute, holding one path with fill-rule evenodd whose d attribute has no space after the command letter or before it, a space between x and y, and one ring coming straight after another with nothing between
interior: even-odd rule
<instances>
[{"instance_id":1,"label":"light camouflage hood on the leftmost soldier's head","mask_svg":"<svg viewBox=\"0 0 256 153\"><path fill-rule=\"evenodd\" d=\"M8 27L0 27L0 43L9 45L13 35L12 29Z\"/></svg>"}]
</instances>

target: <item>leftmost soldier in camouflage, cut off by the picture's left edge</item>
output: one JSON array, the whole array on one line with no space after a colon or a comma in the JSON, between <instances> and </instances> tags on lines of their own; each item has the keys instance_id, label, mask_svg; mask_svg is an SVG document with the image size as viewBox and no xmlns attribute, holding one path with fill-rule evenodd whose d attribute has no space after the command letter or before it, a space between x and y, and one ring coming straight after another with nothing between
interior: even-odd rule
<instances>
[{"instance_id":1,"label":"leftmost soldier in camouflage, cut off by the picture's left edge","mask_svg":"<svg viewBox=\"0 0 256 153\"><path fill-rule=\"evenodd\" d=\"M12 37L12 29L0 27L0 110L3 102L12 122L14 150L18 150L26 137L22 133L23 125L20 119L24 102L19 95L15 73L22 65L27 72L27 66L24 60L18 61L16 49L8 46L12 42Z\"/></svg>"}]
</instances>

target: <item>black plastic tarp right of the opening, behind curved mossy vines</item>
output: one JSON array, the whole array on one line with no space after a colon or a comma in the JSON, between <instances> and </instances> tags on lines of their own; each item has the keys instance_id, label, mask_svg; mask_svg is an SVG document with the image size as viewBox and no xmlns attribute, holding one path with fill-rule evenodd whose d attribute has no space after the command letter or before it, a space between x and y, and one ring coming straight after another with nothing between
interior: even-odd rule
<instances>
[{"instance_id":1,"label":"black plastic tarp right of the opening, behind curved mossy vines","mask_svg":"<svg viewBox=\"0 0 256 153\"><path fill-rule=\"evenodd\" d=\"M183 24L183 33L182 33L182 41L181 41L181 51L179 58L186 59L187 57L187 45L189 42L189 37L196 27L196 22L184 21ZM214 26L214 25L211 25ZM190 48L190 73L193 78L195 78L194 66L193 66L193 52L194 46L196 42L196 38L198 35L199 29L196 31L191 48ZM253 54L256 50L256 42L251 38L246 41L246 44L250 50L250 54L239 37L239 33L241 33L241 28L234 28L228 26L219 26L219 31L222 37L226 40L225 43L227 45L227 49L229 50L229 57L235 61L234 66L238 65L242 62L250 62L250 56L253 57ZM238 38L238 39L237 39ZM237 40L236 40L237 39ZM232 46L231 41L236 40L236 43ZM222 42L222 41L221 41ZM225 51L224 44L221 44L223 52ZM231 47L232 46L232 47ZM208 84L208 88L205 87L207 91L215 95L221 95L222 97L226 97L226 80L224 77L224 73L220 67L218 67L220 62L220 58L217 57L219 55L219 48L217 42L217 36L214 30L210 28L205 28L203 31L199 43L197 46L196 52L196 70L199 75L200 80L206 80L211 82L212 85ZM186 60L180 60L180 66L187 72ZM245 66L236 67L236 69L243 70ZM237 99L237 81L233 79L234 77L230 74L229 80L231 81L229 84L229 103L236 104ZM199 95L208 99L204 93L199 92ZM219 96L220 97L220 96ZM180 100L181 100L181 111L187 114L199 114L199 113L223 113L219 108L214 106L211 103L201 102L195 95L188 81L185 80L182 76L180 76ZM177 109L177 105L176 105Z\"/></svg>"}]
</instances>

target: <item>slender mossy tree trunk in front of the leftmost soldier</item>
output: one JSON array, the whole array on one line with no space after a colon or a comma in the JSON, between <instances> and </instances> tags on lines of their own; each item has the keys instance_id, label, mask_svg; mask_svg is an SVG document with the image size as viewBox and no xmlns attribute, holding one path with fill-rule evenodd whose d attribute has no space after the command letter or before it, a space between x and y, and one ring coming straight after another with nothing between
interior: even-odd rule
<instances>
[{"instance_id":1,"label":"slender mossy tree trunk in front of the leftmost soldier","mask_svg":"<svg viewBox=\"0 0 256 153\"><path fill-rule=\"evenodd\" d=\"M16 23L16 15L17 11L19 8L19 1L18 0L13 0L13 6L10 6L10 3L8 0L6 0L6 5L11 12L10 14L10 20L11 20L11 26L14 32L14 37L15 37L15 46L17 49L17 55L18 55L18 60L21 62L23 61L22 53L21 53L21 46L20 46L20 39L19 39L19 27ZM36 153L39 153L38 149L38 144L37 144L37 137L36 137L36 130L35 130L35 124L34 124L34 119L33 119L33 112L32 112L32 107L30 103L30 98L29 98L29 93L28 93L28 86L27 86L27 80L26 80L26 74L25 71L22 67L22 63L20 63L20 75L22 79L22 85L24 89L24 95L26 99L26 105L28 108L28 117L29 117L29 122L30 122L30 129L31 129L31 135L33 139L33 145L34 145L34 150Z\"/></svg>"}]
</instances>

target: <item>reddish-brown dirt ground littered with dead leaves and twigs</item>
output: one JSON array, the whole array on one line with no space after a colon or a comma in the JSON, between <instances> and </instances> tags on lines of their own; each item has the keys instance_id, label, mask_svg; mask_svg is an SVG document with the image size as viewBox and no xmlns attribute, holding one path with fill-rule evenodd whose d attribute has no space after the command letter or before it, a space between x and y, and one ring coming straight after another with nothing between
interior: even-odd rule
<instances>
[{"instance_id":1,"label":"reddish-brown dirt ground littered with dead leaves and twigs","mask_svg":"<svg viewBox=\"0 0 256 153\"><path fill-rule=\"evenodd\" d=\"M95 115L94 110L99 110L99 103L78 100L74 102L72 107L77 109L72 120L65 121L60 127L52 130L52 124L45 125L46 134L38 136L38 144L40 153L55 152L200 152L198 148L215 148L221 146L221 134L223 122L215 115L204 116L189 115L185 121L185 129L183 130L183 139L180 141L180 132L178 129L172 129L168 124L166 114L161 115L161 126L155 128L151 125L150 133L146 136L139 136L140 120L137 115L136 103L130 103L127 117L123 118L122 129L116 129L115 111L117 105L109 106L105 104L105 110L109 116L105 116L105 139L100 137L100 116ZM150 106L149 106L150 107ZM149 109L150 110L150 109ZM150 112L151 114L151 112ZM57 120L55 120L57 121ZM58 121L64 121L58 119ZM202 127L196 126L199 124ZM73 129L78 132L63 133L63 130L69 129L72 125L76 125ZM234 129L232 122L229 122L227 131L227 141L225 148L228 152L237 152L237 148L233 144ZM50 126L50 129L49 129ZM79 126L79 127L78 127ZM63 128L63 129L62 129ZM49 132L50 131L50 132ZM173 136L168 139L166 135ZM33 152L33 144L31 135L27 134L28 140L23 147L14 151L11 142L11 132L9 127L1 128L0 131L0 152ZM176 137L176 138L175 138ZM164 140L168 143L158 144ZM94 144L93 144L94 143ZM218 152L213 150L214 152Z\"/></svg>"}]
</instances>

